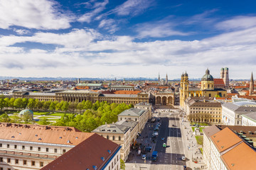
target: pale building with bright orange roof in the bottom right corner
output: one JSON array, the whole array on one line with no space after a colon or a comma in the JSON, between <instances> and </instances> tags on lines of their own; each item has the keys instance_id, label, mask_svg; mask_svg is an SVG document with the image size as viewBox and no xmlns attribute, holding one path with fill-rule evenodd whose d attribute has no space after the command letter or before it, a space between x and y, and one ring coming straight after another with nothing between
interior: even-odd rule
<instances>
[{"instance_id":1,"label":"pale building with bright orange roof in the bottom right corner","mask_svg":"<svg viewBox=\"0 0 256 170\"><path fill-rule=\"evenodd\" d=\"M203 130L203 160L206 169L255 169L256 152L253 149L252 140L255 139L256 133L252 133L252 130L256 128L226 125L213 125L205 128ZM245 135L248 137L245 139L250 142L246 142L243 138Z\"/></svg>"}]
</instances>

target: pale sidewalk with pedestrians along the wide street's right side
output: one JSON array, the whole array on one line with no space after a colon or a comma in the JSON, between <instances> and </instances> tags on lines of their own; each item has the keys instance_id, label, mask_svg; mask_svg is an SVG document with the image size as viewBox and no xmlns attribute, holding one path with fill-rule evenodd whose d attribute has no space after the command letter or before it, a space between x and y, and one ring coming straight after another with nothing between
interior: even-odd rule
<instances>
[{"instance_id":1,"label":"pale sidewalk with pedestrians along the wide street's right side","mask_svg":"<svg viewBox=\"0 0 256 170\"><path fill-rule=\"evenodd\" d=\"M182 122L183 120L183 122ZM185 157L187 159L186 164L188 169L203 169L203 154L201 154L200 149L203 146L198 145L196 142L196 137L193 135L193 130L190 123L186 118L180 118L181 123L181 134L183 140L183 149ZM197 163L193 162L196 161Z\"/></svg>"}]
</instances>

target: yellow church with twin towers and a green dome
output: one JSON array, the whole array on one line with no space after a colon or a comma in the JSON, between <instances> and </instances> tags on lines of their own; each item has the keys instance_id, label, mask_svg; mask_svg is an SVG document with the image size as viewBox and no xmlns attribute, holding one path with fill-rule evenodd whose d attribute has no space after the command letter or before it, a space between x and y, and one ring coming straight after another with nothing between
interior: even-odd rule
<instances>
[{"instance_id":1,"label":"yellow church with twin towers and a green dome","mask_svg":"<svg viewBox=\"0 0 256 170\"><path fill-rule=\"evenodd\" d=\"M189 88L188 74L181 75L181 87L180 87L180 106L184 108L184 102L188 97L226 97L227 91L224 89L214 88L214 79L210 75L209 69L206 69L206 74L201 79L201 88Z\"/></svg>"}]
</instances>

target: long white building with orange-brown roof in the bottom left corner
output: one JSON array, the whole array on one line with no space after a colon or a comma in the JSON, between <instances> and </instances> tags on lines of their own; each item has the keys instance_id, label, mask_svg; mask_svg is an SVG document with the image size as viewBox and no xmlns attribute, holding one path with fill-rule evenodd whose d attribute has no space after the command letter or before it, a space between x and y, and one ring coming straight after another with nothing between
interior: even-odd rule
<instances>
[{"instance_id":1,"label":"long white building with orange-brown roof in the bottom left corner","mask_svg":"<svg viewBox=\"0 0 256 170\"><path fill-rule=\"evenodd\" d=\"M0 123L0 170L42 169L94 135L73 127Z\"/></svg>"}]
</instances>

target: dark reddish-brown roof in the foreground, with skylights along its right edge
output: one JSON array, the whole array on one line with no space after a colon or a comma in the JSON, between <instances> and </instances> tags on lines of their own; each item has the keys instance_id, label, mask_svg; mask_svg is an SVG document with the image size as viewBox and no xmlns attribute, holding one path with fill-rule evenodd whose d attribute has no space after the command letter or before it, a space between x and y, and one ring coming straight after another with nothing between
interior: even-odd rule
<instances>
[{"instance_id":1,"label":"dark reddish-brown roof in the foreground, with skylights along its right edge","mask_svg":"<svg viewBox=\"0 0 256 170\"><path fill-rule=\"evenodd\" d=\"M118 149L119 145L116 143L93 134L41 170L92 170L92 166L102 169Z\"/></svg>"}]
</instances>

